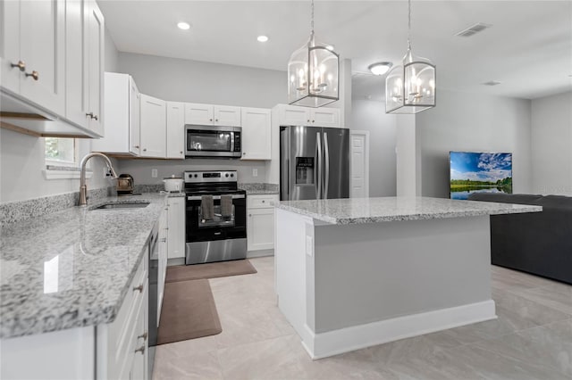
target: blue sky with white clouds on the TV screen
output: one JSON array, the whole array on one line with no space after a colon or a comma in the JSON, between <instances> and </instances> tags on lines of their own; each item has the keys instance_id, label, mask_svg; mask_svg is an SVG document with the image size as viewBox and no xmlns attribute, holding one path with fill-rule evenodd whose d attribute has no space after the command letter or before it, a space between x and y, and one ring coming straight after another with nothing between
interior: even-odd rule
<instances>
[{"instance_id":1,"label":"blue sky with white clouds on the TV screen","mask_svg":"<svg viewBox=\"0 0 572 380\"><path fill-rule=\"evenodd\" d=\"M450 153L450 179L496 182L512 177L512 153Z\"/></svg>"}]
</instances>

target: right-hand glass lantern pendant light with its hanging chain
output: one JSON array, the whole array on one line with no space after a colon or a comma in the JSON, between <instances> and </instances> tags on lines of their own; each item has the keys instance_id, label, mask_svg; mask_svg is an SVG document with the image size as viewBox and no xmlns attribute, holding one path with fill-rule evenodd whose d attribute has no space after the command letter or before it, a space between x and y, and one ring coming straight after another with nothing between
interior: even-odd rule
<instances>
[{"instance_id":1,"label":"right-hand glass lantern pendant light with its hanging chain","mask_svg":"<svg viewBox=\"0 0 572 380\"><path fill-rule=\"evenodd\" d=\"M411 51L411 0L408 0L408 51L403 64L385 78L385 113L416 113L435 106L435 65Z\"/></svg>"}]
</instances>

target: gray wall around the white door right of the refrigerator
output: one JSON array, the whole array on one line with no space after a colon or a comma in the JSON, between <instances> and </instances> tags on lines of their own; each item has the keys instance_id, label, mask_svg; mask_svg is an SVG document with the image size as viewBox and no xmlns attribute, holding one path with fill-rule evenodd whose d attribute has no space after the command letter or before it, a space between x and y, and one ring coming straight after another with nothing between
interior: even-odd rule
<instances>
[{"instance_id":1,"label":"gray wall around the white door right of the refrigerator","mask_svg":"<svg viewBox=\"0 0 572 380\"><path fill-rule=\"evenodd\" d=\"M369 131L369 196L395 196L395 115L385 104L353 99L350 129Z\"/></svg>"}]
</instances>

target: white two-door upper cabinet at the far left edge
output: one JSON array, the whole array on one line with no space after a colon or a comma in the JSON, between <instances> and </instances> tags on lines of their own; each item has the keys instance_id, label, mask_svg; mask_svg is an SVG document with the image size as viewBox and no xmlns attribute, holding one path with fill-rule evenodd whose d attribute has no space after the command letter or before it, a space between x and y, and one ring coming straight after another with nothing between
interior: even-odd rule
<instances>
[{"instance_id":1,"label":"white two-door upper cabinet at the far left edge","mask_svg":"<svg viewBox=\"0 0 572 380\"><path fill-rule=\"evenodd\" d=\"M2 87L65 112L65 0L3 1Z\"/></svg>"}]
</instances>

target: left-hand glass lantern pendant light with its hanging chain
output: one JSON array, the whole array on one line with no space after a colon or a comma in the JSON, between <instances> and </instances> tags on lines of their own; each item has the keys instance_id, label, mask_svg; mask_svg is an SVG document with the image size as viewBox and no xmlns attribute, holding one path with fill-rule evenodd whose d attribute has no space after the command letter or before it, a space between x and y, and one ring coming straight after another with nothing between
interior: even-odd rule
<instances>
[{"instance_id":1,"label":"left-hand glass lantern pendant light with its hanging chain","mask_svg":"<svg viewBox=\"0 0 572 380\"><path fill-rule=\"evenodd\" d=\"M288 62L288 103L322 107L340 98L340 55L332 45L315 42L314 0L311 6L310 38Z\"/></svg>"}]
</instances>

